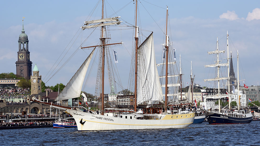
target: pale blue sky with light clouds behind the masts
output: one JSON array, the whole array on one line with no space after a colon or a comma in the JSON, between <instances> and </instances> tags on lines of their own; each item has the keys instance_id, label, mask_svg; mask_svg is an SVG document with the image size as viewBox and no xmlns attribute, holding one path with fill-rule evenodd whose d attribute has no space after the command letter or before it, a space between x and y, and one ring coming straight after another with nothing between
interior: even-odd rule
<instances>
[{"instance_id":1,"label":"pale blue sky with light clouds behind the masts","mask_svg":"<svg viewBox=\"0 0 260 146\"><path fill-rule=\"evenodd\" d=\"M61 70L56 70L77 50L93 29L82 31L80 27L86 20L101 18L101 5L98 1L3 1L0 15L0 72L16 73L18 37L24 30L28 35L30 60L35 64L46 85L67 84L91 50L78 50ZM128 4L129 3L129 4ZM156 62L161 62L162 45L165 41L166 5L168 6L170 26L168 34L172 46L176 49L177 62L181 54L183 81L190 82L190 62L195 75L195 83L201 86L213 85L203 79L214 78L212 69L204 65L215 64L213 55L207 51L216 49L217 37L220 50L226 50L226 33L229 32L229 50L232 51L233 66L237 74L236 50L239 50L239 80L245 79L248 86L258 85L260 81L260 1L138 1L138 26L147 37L151 31L154 36ZM125 6L125 7L124 7ZM135 4L131 0L105 0L105 17L121 16L123 24L134 25ZM121 9L124 7L123 9ZM120 10L120 11L118 11ZM114 13L115 11L116 14ZM92 13L93 12L93 13ZM90 16L91 15L91 16ZM115 30L115 29L120 30ZM128 87L133 42L132 27L110 27L111 42L124 42L113 49L117 51L119 63L116 63L123 88ZM94 32L84 46L96 45L100 32ZM64 51L64 52L63 52ZM62 54L63 52L63 54ZM68 52L55 71L54 63ZM223 58L226 58L226 53ZM94 56L93 56L94 57ZM226 59L222 59L226 63ZM56 63L57 64L57 63ZM95 64L95 62L94 62ZM94 94L96 83L96 65L88 76L83 91ZM225 70L225 69L224 69ZM211 74L211 75L209 75ZM221 72L225 74L225 71ZM53 76L53 77L51 77ZM51 78L50 78L51 77ZM107 81L105 81L107 84ZM185 86L187 84L184 84ZM84 85L83 85L84 86ZM120 91L120 89L118 89ZM109 93L105 87L105 93Z\"/></svg>"}]
</instances>

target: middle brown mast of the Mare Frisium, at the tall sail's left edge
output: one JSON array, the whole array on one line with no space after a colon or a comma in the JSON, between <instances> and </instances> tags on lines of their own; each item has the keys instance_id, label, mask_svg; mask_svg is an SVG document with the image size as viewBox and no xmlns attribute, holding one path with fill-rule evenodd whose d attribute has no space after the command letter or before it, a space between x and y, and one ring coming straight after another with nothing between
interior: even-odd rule
<instances>
[{"instance_id":1,"label":"middle brown mast of the Mare Frisium, at the tall sail's left edge","mask_svg":"<svg viewBox=\"0 0 260 146\"><path fill-rule=\"evenodd\" d=\"M134 111L136 112L136 91L137 91L137 49L138 49L138 26L137 23L137 0L135 0L135 76L134 76Z\"/></svg>"}]
</instances>

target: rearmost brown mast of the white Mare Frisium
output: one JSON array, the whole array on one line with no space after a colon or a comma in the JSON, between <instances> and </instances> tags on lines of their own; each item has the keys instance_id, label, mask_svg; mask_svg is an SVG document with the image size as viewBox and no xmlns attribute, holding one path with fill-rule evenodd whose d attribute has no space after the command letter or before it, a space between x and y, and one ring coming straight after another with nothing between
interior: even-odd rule
<instances>
[{"instance_id":1,"label":"rearmost brown mast of the white Mare Frisium","mask_svg":"<svg viewBox=\"0 0 260 146\"><path fill-rule=\"evenodd\" d=\"M167 36L167 23L168 23L168 6L167 6L167 12L166 12L166 71L165 71L165 110L167 110L167 92L168 92L168 88L167 88L167 84L168 84L168 38L169 36Z\"/></svg>"}]
</instances>

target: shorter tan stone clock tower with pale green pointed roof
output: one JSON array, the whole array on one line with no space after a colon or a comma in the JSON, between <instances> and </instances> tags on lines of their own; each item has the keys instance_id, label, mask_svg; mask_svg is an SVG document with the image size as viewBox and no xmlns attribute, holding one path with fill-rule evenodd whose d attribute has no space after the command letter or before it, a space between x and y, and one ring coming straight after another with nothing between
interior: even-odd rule
<instances>
[{"instance_id":1,"label":"shorter tan stone clock tower with pale green pointed roof","mask_svg":"<svg viewBox=\"0 0 260 146\"><path fill-rule=\"evenodd\" d=\"M35 64L33 75L31 76L31 95L42 92L42 76L39 76L39 70Z\"/></svg>"}]
</instances>

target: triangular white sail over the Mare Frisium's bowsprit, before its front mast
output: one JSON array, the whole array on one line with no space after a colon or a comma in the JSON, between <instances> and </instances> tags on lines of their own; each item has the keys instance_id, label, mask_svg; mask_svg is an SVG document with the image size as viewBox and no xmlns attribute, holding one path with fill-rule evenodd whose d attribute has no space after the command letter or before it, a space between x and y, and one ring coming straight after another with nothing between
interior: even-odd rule
<instances>
[{"instance_id":1,"label":"triangular white sail over the Mare Frisium's bowsprit, before its front mast","mask_svg":"<svg viewBox=\"0 0 260 146\"><path fill-rule=\"evenodd\" d=\"M94 51L95 49L89 54L88 58L84 61L75 75L70 79L68 84L64 87L60 95L54 101L80 97L83 81Z\"/></svg>"}]
</instances>

